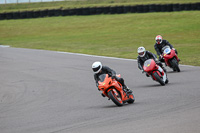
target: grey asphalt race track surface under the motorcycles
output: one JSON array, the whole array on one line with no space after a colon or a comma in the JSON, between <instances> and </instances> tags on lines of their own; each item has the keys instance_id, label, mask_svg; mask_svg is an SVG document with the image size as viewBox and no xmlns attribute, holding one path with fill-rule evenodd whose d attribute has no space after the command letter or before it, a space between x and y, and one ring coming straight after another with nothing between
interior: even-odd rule
<instances>
[{"instance_id":1,"label":"grey asphalt race track surface under the motorcycles","mask_svg":"<svg viewBox=\"0 0 200 133\"><path fill-rule=\"evenodd\" d=\"M97 90L101 61L125 79L134 104L117 107ZM169 68L160 86L135 60L0 47L1 133L199 133L200 67Z\"/></svg>"}]
</instances>

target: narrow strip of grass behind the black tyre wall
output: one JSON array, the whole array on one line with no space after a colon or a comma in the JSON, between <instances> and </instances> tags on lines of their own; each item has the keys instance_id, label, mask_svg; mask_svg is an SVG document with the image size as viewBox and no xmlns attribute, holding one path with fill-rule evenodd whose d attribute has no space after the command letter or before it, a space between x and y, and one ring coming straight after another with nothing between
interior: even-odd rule
<instances>
[{"instance_id":1,"label":"narrow strip of grass behind the black tyre wall","mask_svg":"<svg viewBox=\"0 0 200 133\"><path fill-rule=\"evenodd\" d=\"M58 8L77 8L94 6L139 5L139 4L166 4L166 3L195 3L199 0L80 0L43 3L1 4L1 12L43 10Z\"/></svg>"}]
</instances>

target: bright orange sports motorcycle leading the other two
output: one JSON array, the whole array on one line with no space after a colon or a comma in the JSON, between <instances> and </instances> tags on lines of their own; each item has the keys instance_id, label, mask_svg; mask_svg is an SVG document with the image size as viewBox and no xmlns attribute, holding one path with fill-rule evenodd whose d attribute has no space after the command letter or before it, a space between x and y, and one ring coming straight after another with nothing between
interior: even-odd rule
<instances>
[{"instance_id":1,"label":"bright orange sports motorcycle leading the other two","mask_svg":"<svg viewBox=\"0 0 200 133\"><path fill-rule=\"evenodd\" d=\"M120 77L120 75L117 75ZM134 95L127 94L123 90L123 86L112 79L108 74L101 74L99 76L98 89L102 91L102 95L107 96L111 99L117 106L122 106L124 103L134 103Z\"/></svg>"}]
</instances>

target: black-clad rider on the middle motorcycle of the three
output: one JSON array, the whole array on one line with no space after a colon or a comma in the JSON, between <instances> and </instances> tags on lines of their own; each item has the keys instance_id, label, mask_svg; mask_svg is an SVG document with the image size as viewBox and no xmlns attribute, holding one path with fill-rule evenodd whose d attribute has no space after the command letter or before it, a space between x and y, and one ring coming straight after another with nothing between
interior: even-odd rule
<instances>
[{"instance_id":1,"label":"black-clad rider on the middle motorcycle of the three","mask_svg":"<svg viewBox=\"0 0 200 133\"><path fill-rule=\"evenodd\" d=\"M144 72L143 70L144 62L148 59L153 59L156 62L156 64L158 64L166 72L166 69L163 67L162 63L158 61L155 54L146 51L144 47L139 47L137 52L138 52L138 57L137 57L138 68L142 70L142 73ZM149 77L148 74L146 74L146 76Z\"/></svg>"}]
</instances>

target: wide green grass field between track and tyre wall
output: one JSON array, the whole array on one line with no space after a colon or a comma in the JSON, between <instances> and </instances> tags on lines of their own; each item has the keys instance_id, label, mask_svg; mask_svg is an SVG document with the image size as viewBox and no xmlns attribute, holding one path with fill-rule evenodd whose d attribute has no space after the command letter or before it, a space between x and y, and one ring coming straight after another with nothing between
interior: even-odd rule
<instances>
[{"instance_id":1,"label":"wide green grass field between track and tyre wall","mask_svg":"<svg viewBox=\"0 0 200 133\"><path fill-rule=\"evenodd\" d=\"M12 47L130 59L139 46L155 53L161 34L181 64L200 66L200 11L3 20L0 31L0 44Z\"/></svg>"}]
</instances>

